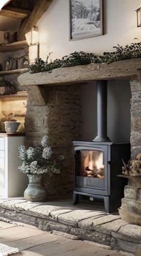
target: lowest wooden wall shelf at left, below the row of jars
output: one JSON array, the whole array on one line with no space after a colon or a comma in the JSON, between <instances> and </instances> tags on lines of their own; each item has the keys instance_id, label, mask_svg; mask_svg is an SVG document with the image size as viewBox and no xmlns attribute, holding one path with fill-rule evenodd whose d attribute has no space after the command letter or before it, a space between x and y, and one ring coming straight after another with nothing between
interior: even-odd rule
<instances>
[{"instance_id":1,"label":"lowest wooden wall shelf at left, below the row of jars","mask_svg":"<svg viewBox=\"0 0 141 256\"><path fill-rule=\"evenodd\" d=\"M27 99L27 92L17 92L13 95L0 95L1 101L7 101L7 100L25 100Z\"/></svg>"}]
</instances>

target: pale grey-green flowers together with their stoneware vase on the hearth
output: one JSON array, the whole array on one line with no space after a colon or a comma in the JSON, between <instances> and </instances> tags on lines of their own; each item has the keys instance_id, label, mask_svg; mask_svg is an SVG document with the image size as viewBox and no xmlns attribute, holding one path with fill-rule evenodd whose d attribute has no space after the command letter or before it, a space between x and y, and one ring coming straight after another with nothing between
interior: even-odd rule
<instances>
[{"instance_id":1,"label":"pale grey-green flowers together with their stoneware vase on the hearth","mask_svg":"<svg viewBox=\"0 0 141 256\"><path fill-rule=\"evenodd\" d=\"M42 187L41 178L44 173L53 175L60 173L56 167L56 161L52 157L51 147L48 145L48 136L44 136L41 145L38 147L29 147L27 150L24 145L19 147L19 157L22 165L19 166L20 172L25 173L29 178L29 184L24 191L24 198L31 202L44 202L47 200L47 194Z\"/></svg>"}]
</instances>

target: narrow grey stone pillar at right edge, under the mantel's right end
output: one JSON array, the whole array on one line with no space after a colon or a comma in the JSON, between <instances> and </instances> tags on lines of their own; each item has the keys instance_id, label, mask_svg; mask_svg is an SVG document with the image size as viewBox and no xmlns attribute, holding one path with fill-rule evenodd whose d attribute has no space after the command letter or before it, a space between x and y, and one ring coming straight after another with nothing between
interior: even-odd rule
<instances>
[{"instance_id":1,"label":"narrow grey stone pillar at right edge, under the mantel's right end","mask_svg":"<svg viewBox=\"0 0 141 256\"><path fill-rule=\"evenodd\" d=\"M131 157L141 152L141 84L137 78L131 86Z\"/></svg>"}]
</instances>

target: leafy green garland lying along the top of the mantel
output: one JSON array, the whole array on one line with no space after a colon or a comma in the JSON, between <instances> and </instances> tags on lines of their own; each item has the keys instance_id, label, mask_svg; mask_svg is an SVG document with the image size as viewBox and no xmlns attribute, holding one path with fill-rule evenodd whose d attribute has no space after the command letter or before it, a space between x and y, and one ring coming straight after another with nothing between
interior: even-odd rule
<instances>
[{"instance_id":1,"label":"leafy green garland lying along the top of the mantel","mask_svg":"<svg viewBox=\"0 0 141 256\"><path fill-rule=\"evenodd\" d=\"M113 47L116 50L113 52L105 52L102 56L98 56L94 53L85 53L84 51L75 51L74 53L69 54L69 56L64 56L62 59L56 59L54 61L50 60L48 63L48 58L44 60L35 59L35 63L29 65L29 72L31 74L38 72L51 71L56 68L65 68L70 66L79 66L87 65L91 63L112 63L117 62L118 60L127 60L137 57L141 57L141 42L132 43L130 45L125 45L122 47L118 46Z\"/></svg>"}]
</instances>

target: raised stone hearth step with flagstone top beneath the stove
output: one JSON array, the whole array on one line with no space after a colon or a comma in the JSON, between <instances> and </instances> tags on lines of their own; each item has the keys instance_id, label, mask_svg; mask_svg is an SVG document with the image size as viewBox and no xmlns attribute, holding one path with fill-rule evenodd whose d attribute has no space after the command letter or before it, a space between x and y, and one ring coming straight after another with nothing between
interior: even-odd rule
<instances>
[{"instance_id":1,"label":"raised stone hearth step with flagstone top beneath the stove","mask_svg":"<svg viewBox=\"0 0 141 256\"><path fill-rule=\"evenodd\" d=\"M34 225L44 231L61 231L75 239L89 240L118 251L136 254L141 227L122 221L119 215L67 206L64 202L32 203L24 199L1 200L0 219Z\"/></svg>"}]
</instances>

